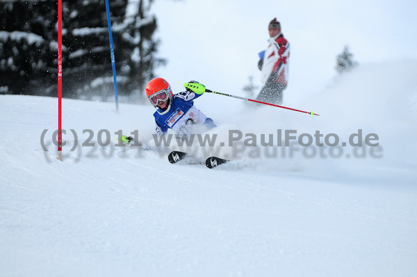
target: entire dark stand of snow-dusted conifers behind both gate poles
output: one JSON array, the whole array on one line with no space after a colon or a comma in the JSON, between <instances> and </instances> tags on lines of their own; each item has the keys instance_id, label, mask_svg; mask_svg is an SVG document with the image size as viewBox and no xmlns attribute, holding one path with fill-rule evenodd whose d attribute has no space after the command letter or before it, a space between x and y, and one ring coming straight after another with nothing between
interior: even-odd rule
<instances>
[{"instance_id":1,"label":"entire dark stand of snow-dusted conifers behind both gate poles","mask_svg":"<svg viewBox=\"0 0 417 277\"><path fill-rule=\"evenodd\" d=\"M110 2L119 94L143 91L153 70L156 18L151 0ZM0 2L0 87L56 96L56 1ZM103 0L63 1L63 96L112 96L113 73Z\"/></svg>"}]
</instances>

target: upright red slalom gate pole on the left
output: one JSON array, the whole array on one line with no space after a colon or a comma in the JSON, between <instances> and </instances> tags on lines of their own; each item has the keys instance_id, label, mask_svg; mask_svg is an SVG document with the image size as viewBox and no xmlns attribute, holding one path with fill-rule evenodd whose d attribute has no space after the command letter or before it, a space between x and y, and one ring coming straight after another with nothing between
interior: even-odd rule
<instances>
[{"instance_id":1,"label":"upright red slalom gate pole on the left","mask_svg":"<svg viewBox=\"0 0 417 277\"><path fill-rule=\"evenodd\" d=\"M63 98L63 1L58 0L58 160L63 160L62 98Z\"/></svg>"}]
</instances>

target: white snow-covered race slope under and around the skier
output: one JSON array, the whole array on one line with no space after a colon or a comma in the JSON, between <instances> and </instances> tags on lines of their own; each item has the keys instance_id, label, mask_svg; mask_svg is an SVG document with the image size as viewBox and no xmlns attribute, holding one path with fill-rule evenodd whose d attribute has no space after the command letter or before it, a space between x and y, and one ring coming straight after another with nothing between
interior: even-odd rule
<instances>
[{"instance_id":1,"label":"white snow-covered race slope under and around the skier","mask_svg":"<svg viewBox=\"0 0 417 277\"><path fill-rule=\"evenodd\" d=\"M117 114L114 103L70 99L60 162L56 99L2 95L0 276L414 276L415 72L415 61L363 65L316 95L286 94L285 106L314 109L313 118L205 94L196 105L220 138L294 129L346 142L362 129L380 143L377 158L350 146L338 158L328 148L326 158L245 152L213 170L111 146L120 129L149 140L151 106L122 104ZM79 144L91 129L96 146L106 129L111 145L71 152L70 129Z\"/></svg>"}]
</instances>

